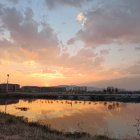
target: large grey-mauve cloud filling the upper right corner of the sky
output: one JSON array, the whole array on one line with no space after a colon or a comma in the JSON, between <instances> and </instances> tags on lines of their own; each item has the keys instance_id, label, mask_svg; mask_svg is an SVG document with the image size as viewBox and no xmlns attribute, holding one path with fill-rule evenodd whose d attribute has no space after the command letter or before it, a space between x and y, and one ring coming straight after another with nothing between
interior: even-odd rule
<instances>
[{"instance_id":1,"label":"large grey-mauve cloud filling the upper right corner of the sky","mask_svg":"<svg viewBox=\"0 0 140 140\"><path fill-rule=\"evenodd\" d=\"M86 46L140 42L140 1L103 1L87 13L86 23L75 37Z\"/></svg>"}]
</instances>

